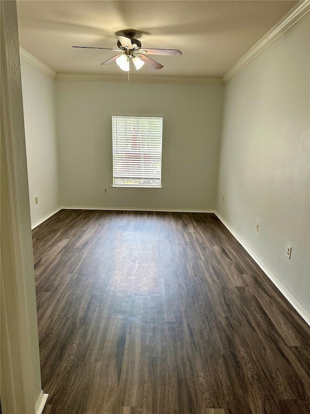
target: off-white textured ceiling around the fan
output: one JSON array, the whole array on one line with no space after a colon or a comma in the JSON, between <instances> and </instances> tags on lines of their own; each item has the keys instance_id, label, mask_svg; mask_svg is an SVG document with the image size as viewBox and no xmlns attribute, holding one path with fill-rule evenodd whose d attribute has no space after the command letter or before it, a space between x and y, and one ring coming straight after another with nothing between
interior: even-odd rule
<instances>
[{"instance_id":1,"label":"off-white textured ceiling around the fan","mask_svg":"<svg viewBox=\"0 0 310 414\"><path fill-rule=\"evenodd\" d=\"M180 49L181 57L152 56L137 74L221 77L297 1L17 1L20 46L56 72L116 75L100 65L117 52L115 33L132 29L142 48ZM123 72L124 74L124 72Z\"/></svg>"}]
</instances>

